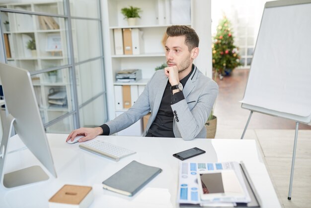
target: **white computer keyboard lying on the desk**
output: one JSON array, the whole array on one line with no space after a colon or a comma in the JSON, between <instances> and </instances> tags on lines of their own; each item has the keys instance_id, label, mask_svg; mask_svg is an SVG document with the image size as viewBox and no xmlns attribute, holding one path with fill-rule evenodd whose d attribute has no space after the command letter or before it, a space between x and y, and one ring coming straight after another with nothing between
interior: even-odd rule
<instances>
[{"instance_id":1,"label":"white computer keyboard lying on the desk","mask_svg":"<svg viewBox=\"0 0 311 208\"><path fill-rule=\"evenodd\" d=\"M119 161L120 158L135 154L135 151L119 147L108 142L96 140L83 144L79 144L81 149L95 153L100 156L105 156L115 161Z\"/></svg>"}]
</instances>

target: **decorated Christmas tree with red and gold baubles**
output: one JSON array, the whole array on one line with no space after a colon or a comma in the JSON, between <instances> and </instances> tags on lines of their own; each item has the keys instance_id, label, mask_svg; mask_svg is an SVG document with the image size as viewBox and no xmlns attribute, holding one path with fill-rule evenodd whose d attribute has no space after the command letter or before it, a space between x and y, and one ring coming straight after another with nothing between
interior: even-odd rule
<instances>
[{"instance_id":1,"label":"decorated Christmas tree with red and gold baubles","mask_svg":"<svg viewBox=\"0 0 311 208\"><path fill-rule=\"evenodd\" d=\"M229 75L235 67L241 65L230 26L230 21L224 15L213 38L213 68L220 75Z\"/></svg>"}]
</instances>

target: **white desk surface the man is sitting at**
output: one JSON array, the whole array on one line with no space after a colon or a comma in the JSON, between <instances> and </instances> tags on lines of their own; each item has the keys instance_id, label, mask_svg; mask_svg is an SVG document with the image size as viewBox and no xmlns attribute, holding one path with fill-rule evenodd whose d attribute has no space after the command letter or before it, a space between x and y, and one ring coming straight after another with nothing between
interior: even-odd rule
<instances>
[{"instance_id":1,"label":"white desk surface the man is sitting at","mask_svg":"<svg viewBox=\"0 0 311 208\"><path fill-rule=\"evenodd\" d=\"M48 200L64 185L92 186L95 200L90 208L177 208L177 181L179 161L172 154L192 147L206 153L186 161L226 162L243 161L261 199L262 208L280 208L266 167L254 140L148 138L99 136L110 143L135 150L137 153L119 162L89 153L76 144L67 144L65 134L48 134L58 178L23 188L0 188L0 207L47 208ZM10 138L14 148L22 146L18 136ZM15 143L15 144L13 144ZM5 172L39 164L28 149L8 154ZM134 197L126 197L103 190L101 182L126 164L138 162L156 166L163 171ZM45 169L44 169L45 170Z\"/></svg>"}]
</instances>

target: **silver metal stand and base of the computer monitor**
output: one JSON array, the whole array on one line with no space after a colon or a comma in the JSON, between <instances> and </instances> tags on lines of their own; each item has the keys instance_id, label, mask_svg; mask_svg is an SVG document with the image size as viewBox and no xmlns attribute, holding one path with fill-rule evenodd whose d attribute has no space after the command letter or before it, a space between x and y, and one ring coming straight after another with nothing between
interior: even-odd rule
<instances>
[{"instance_id":1,"label":"silver metal stand and base of the computer monitor","mask_svg":"<svg viewBox=\"0 0 311 208\"><path fill-rule=\"evenodd\" d=\"M10 138L15 118L8 114L6 119L6 127L3 129L3 137L0 145L0 177L1 185L5 188L15 188L23 185L46 181L49 176L42 170L40 166L31 166L18 171L4 174L5 157L7 153L7 143Z\"/></svg>"}]
</instances>

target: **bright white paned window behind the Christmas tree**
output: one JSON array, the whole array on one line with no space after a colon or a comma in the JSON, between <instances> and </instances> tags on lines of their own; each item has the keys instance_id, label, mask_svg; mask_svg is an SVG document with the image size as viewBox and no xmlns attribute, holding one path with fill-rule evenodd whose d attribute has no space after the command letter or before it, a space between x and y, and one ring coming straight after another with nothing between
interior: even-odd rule
<instances>
[{"instance_id":1,"label":"bright white paned window behind the Christmas tree","mask_svg":"<svg viewBox=\"0 0 311 208\"><path fill-rule=\"evenodd\" d=\"M225 14L232 23L234 44L239 48L241 68L249 68L266 0L212 0L212 35Z\"/></svg>"}]
</instances>

